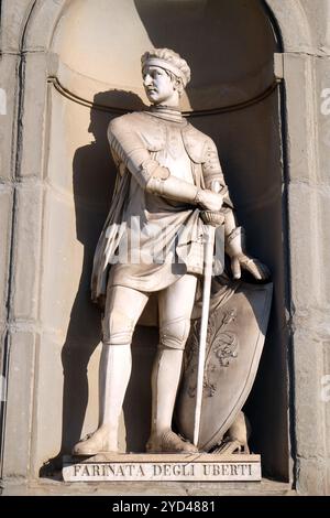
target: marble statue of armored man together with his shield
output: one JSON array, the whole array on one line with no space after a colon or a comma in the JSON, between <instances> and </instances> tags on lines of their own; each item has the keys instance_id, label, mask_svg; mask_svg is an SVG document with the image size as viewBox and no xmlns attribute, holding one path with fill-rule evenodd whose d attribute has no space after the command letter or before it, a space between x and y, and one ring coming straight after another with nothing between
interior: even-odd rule
<instances>
[{"instance_id":1,"label":"marble statue of armored man together with his shield","mask_svg":"<svg viewBox=\"0 0 330 518\"><path fill-rule=\"evenodd\" d=\"M271 284L246 290L240 279L244 269L264 281L268 270L245 252L215 142L179 109L189 66L177 53L156 48L143 54L142 77L150 108L113 119L108 131L118 177L91 282L92 300L105 301L99 427L74 446L75 455L118 452L132 335L152 294L158 304L160 343L151 380L150 453L209 451L226 443L226 433L232 445L241 445L234 431L241 430L241 409L267 326ZM216 255L194 441L205 236L212 225L206 214L222 231L231 272L222 271Z\"/></svg>"}]
</instances>

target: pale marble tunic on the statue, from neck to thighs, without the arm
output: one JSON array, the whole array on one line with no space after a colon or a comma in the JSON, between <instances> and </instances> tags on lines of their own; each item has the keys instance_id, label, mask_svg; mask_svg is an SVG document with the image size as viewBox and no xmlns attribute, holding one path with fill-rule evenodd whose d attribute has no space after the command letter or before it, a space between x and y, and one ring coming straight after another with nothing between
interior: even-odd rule
<instances>
[{"instance_id":1,"label":"pale marble tunic on the statue, from neck to thighs, without the arm","mask_svg":"<svg viewBox=\"0 0 330 518\"><path fill-rule=\"evenodd\" d=\"M204 224L196 206L145 191L147 179L130 163L136 150L185 182L206 188L226 186L212 140L180 112L134 112L109 127L110 149L119 179L95 255L92 299L111 285L162 290L185 273L202 274ZM229 196L224 199L231 206ZM110 276L108 280L109 267Z\"/></svg>"}]
</instances>

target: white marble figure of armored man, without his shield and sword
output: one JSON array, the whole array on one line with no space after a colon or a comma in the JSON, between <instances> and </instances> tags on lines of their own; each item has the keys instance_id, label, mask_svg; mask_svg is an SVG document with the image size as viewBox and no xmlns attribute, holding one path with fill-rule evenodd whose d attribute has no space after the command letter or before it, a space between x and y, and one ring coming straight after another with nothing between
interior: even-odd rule
<instances>
[{"instance_id":1,"label":"white marble figure of armored man, without his shield and sword","mask_svg":"<svg viewBox=\"0 0 330 518\"><path fill-rule=\"evenodd\" d=\"M75 455L118 452L132 334L152 293L158 301L160 344L151 380L146 452L198 451L191 439L173 431L172 422L204 274L201 211L223 215L232 273L231 279L215 279L216 293L223 298L233 292L241 269L257 280L268 276L267 268L244 250L244 231L237 225L213 141L180 112L180 96L190 79L188 64L172 50L156 48L143 54L142 77L151 107L116 118L108 131L118 179L95 255L91 287L92 300L106 301L99 427L74 446ZM120 255L123 242L125 253Z\"/></svg>"}]
</instances>

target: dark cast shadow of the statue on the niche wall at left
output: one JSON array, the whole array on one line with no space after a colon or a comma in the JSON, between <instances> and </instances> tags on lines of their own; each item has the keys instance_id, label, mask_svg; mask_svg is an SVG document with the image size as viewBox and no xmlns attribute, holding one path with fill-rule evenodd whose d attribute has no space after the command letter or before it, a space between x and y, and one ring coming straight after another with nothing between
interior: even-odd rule
<instances>
[{"instance_id":1,"label":"dark cast shadow of the statue on the niche wall at left","mask_svg":"<svg viewBox=\"0 0 330 518\"><path fill-rule=\"evenodd\" d=\"M145 108L139 96L122 90L98 93L94 97L94 105L124 106L128 110ZM76 233L84 246L84 260L62 349L62 445L58 454L41 468L40 476L52 476L54 471L61 468L62 455L70 453L73 445L80 439L89 399L88 363L101 341L101 311L90 301L90 276L94 252L110 207L117 174L107 140L107 129L114 117L108 110L91 108L88 132L94 141L77 149L73 161Z\"/></svg>"}]
</instances>

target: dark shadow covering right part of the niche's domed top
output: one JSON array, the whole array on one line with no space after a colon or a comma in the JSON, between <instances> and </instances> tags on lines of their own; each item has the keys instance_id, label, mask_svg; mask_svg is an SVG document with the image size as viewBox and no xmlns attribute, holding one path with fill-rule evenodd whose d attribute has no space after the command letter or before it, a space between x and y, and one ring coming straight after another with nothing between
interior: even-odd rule
<instances>
[{"instance_id":1,"label":"dark shadow covering right part of the niche's domed top","mask_svg":"<svg viewBox=\"0 0 330 518\"><path fill-rule=\"evenodd\" d=\"M235 104L273 80L274 31L260 0L134 0L155 47L189 64L193 109Z\"/></svg>"}]
</instances>

